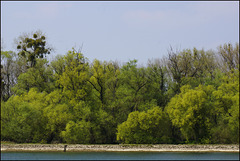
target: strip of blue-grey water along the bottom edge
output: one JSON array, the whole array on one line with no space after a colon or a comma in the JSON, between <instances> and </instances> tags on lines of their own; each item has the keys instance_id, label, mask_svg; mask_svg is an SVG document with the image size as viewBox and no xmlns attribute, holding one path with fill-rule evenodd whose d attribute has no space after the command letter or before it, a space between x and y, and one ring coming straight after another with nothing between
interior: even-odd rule
<instances>
[{"instance_id":1,"label":"strip of blue-grey water along the bottom edge","mask_svg":"<svg viewBox=\"0 0 240 161\"><path fill-rule=\"evenodd\" d=\"M1 160L239 160L239 153L1 152Z\"/></svg>"}]
</instances>

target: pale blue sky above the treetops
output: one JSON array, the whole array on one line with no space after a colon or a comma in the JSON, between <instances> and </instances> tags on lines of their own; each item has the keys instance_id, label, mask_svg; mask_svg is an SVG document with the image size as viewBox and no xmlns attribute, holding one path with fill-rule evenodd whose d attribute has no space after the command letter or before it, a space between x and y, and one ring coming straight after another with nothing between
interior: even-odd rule
<instances>
[{"instance_id":1,"label":"pale blue sky above the treetops","mask_svg":"<svg viewBox=\"0 0 240 161\"><path fill-rule=\"evenodd\" d=\"M41 30L54 48L73 47L89 61L162 58L170 46L217 49L239 43L238 1L1 1L1 46Z\"/></svg>"}]
</instances>

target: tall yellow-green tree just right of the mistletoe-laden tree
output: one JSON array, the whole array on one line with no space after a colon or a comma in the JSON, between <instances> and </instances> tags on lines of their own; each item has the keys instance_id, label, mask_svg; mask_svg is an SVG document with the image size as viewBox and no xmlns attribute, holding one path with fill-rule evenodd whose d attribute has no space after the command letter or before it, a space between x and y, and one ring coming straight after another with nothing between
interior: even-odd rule
<instances>
[{"instance_id":1,"label":"tall yellow-green tree just right of the mistletoe-laden tree","mask_svg":"<svg viewBox=\"0 0 240 161\"><path fill-rule=\"evenodd\" d=\"M77 103L77 100L84 100L89 94L87 81L88 63L81 53L69 51L64 56L66 63L64 72L58 76L57 84L63 89L63 94L71 100L71 104Z\"/></svg>"}]
</instances>

